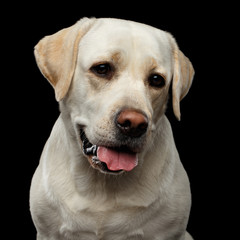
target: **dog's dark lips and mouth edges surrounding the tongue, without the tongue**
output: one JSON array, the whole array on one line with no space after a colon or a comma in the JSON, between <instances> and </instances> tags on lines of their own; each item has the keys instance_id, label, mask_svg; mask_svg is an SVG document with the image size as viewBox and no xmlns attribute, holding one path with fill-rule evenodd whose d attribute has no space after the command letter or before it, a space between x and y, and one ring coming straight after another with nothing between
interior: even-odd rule
<instances>
[{"instance_id":1,"label":"dog's dark lips and mouth edges surrounding the tongue, without the tongue","mask_svg":"<svg viewBox=\"0 0 240 240\"><path fill-rule=\"evenodd\" d=\"M124 153L126 155L136 155L136 162L135 165L132 166L131 168L134 168L135 166L137 166L137 153L132 151L131 149L129 149L127 146L116 146L114 147L114 145L111 144L111 146L98 146L98 145L94 145L92 144L83 129L80 129L80 139L82 141L82 151L84 153L84 155L88 158L88 161L90 163L90 165L95 168L100 170L103 173L108 173L108 174L113 174L113 175L118 175L121 174L123 172L125 172L124 169L116 169L116 170L110 170L108 168L108 162L105 162L103 159L103 161L101 161L98 157L98 149L109 149L110 151L112 150L113 152L119 152L119 153ZM109 166L110 167L110 166ZM110 167L111 168L111 167ZM132 170L130 168L130 170ZM126 169L126 171L130 171L128 169Z\"/></svg>"}]
</instances>

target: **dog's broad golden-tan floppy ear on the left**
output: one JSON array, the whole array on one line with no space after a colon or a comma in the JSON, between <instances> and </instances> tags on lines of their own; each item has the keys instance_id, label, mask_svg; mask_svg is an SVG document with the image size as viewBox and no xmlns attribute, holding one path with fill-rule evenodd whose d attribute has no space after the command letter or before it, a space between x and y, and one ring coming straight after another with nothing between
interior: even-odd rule
<instances>
[{"instance_id":1,"label":"dog's broad golden-tan floppy ear on the left","mask_svg":"<svg viewBox=\"0 0 240 240\"><path fill-rule=\"evenodd\" d=\"M69 89L75 71L79 41L95 20L83 18L71 27L44 37L35 46L37 65L54 87L57 101L60 101Z\"/></svg>"}]
</instances>

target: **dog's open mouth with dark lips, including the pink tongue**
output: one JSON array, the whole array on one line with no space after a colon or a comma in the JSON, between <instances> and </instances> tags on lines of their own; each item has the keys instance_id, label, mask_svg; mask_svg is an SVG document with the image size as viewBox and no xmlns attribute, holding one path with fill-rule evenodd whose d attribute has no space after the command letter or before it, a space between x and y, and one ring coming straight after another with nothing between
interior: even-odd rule
<instances>
[{"instance_id":1,"label":"dog's open mouth with dark lips, including the pink tongue","mask_svg":"<svg viewBox=\"0 0 240 240\"><path fill-rule=\"evenodd\" d=\"M133 170L138 165L137 153L127 146L94 145L88 140L83 129L80 129L80 139L83 153L87 156L90 165L102 173L119 175Z\"/></svg>"}]
</instances>

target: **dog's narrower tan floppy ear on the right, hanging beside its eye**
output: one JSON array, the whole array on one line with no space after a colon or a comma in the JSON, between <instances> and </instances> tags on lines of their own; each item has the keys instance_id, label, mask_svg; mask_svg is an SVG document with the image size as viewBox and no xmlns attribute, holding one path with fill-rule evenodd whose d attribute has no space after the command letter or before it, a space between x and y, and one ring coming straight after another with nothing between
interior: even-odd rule
<instances>
[{"instance_id":1,"label":"dog's narrower tan floppy ear on the right, hanging beside its eye","mask_svg":"<svg viewBox=\"0 0 240 240\"><path fill-rule=\"evenodd\" d=\"M180 101L187 95L194 76L194 69L190 60L179 50L177 43L171 37L173 47L173 82L172 82L172 104L173 112L180 121Z\"/></svg>"}]
</instances>

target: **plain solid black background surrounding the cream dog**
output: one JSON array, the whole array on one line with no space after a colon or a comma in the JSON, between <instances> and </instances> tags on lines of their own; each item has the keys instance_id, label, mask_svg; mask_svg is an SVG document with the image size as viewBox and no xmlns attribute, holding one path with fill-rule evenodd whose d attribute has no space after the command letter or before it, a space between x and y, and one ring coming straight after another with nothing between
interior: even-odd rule
<instances>
[{"instance_id":1,"label":"plain solid black background surrounding the cream dog","mask_svg":"<svg viewBox=\"0 0 240 240\"><path fill-rule=\"evenodd\" d=\"M234 180L229 180L232 150L228 147L232 138L226 127L234 102L234 84L230 87L227 83L230 70L226 64L231 63L231 58L225 55L232 43L228 36L232 36L234 7L230 7L203 2L176 5L157 1L66 1L2 8L2 14L6 14L1 34L2 74L7 79L1 106L2 120L6 121L3 132L7 133L3 149L7 151L3 158L7 167L2 168L2 198L6 204L2 211L7 213L3 229L7 239L35 239L29 188L42 148L59 115L54 91L36 66L33 48L45 35L85 16L123 18L166 30L193 63L195 78L181 102L181 121L175 119L170 104L167 110L191 183L193 204L188 230L195 240L231 239L224 237L232 231L227 226L232 222L229 206L234 205L230 189ZM229 199L231 204L227 203Z\"/></svg>"}]
</instances>

